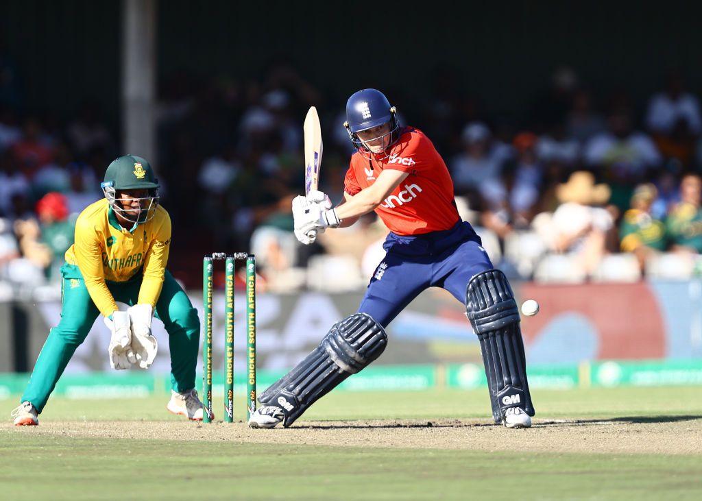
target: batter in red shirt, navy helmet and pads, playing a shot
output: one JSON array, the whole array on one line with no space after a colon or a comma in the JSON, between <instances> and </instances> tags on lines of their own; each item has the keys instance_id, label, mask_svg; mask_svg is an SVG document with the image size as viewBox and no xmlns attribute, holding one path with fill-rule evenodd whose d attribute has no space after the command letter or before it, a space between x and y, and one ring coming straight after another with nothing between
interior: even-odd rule
<instances>
[{"instance_id":1,"label":"batter in red shirt, navy helmet and pads, playing a shot","mask_svg":"<svg viewBox=\"0 0 702 501\"><path fill-rule=\"evenodd\" d=\"M371 277L358 312L334 324L319 347L260 395L249 426L289 426L351 374L377 359L385 327L429 287L442 287L463 304L480 341L495 422L531 426L519 312L503 272L494 269L468 222L461 221L453 182L432 142L401 127L383 93L365 89L346 103L344 126L358 151L345 177L344 201L311 192L293 200L295 233L347 227L375 211L390 228L385 258Z\"/></svg>"}]
</instances>

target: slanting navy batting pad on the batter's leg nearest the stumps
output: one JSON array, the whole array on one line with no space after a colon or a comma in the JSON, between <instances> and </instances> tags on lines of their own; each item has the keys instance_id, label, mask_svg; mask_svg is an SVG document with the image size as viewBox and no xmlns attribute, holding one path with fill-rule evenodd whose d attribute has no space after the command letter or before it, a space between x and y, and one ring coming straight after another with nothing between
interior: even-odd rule
<instances>
[{"instance_id":1,"label":"slanting navy batting pad on the batter's leg nearest the stumps","mask_svg":"<svg viewBox=\"0 0 702 501\"><path fill-rule=\"evenodd\" d=\"M356 313L335 323L312 353L263 392L264 406L279 406L288 427L317 399L368 366L388 345L383 326L369 314Z\"/></svg>"}]
</instances>

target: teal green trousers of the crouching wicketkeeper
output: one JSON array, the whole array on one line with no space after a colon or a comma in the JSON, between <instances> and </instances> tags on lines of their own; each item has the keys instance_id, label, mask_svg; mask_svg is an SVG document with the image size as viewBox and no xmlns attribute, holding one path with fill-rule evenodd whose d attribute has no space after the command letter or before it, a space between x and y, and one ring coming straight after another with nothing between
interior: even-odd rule
<instances>
[{"instance_id":1,"label":"teal green trousers of the crouching wicketkeeper","mask_svg":"<svg viewBox=\"0 0 702 501\"><path fill-rule=\"evenodd\" d=\"M85 340L100 314L88 294L77 266L63 265L61 276L61 320L58 326L49 331L21 399L22 402L32 403L40 413L68 361ZM107 288L110 289L114 300L134 305L139 296L141 281L142 275L139 273L126 282L107 281ZM190 298L168 270L156 303L155 316L164 323L168 332L168 346L171 349L171 387L176 392L193 389L200 320Z\"/></svg>"}]
</instances>

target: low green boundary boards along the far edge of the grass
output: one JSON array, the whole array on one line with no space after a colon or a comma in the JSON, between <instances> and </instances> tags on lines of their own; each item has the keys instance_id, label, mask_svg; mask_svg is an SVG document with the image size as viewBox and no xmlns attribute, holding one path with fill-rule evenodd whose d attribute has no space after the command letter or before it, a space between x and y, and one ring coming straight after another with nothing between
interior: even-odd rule
<instances>
[{"instance_id":1,"label":"low green boundary boards along the far edge of the grass","mask_svg":"<svg viewBox=\"0 0 702 501\"><path fill-rule=\"evenodd\" d=\"M268 387L284 370L260 370L259 389ZM661 387L702 385L702 360L598 361L578 366L530 366L529 386L533 389L588 387ZM0 374L0 399L21 394L28 374ZM201 376L198 376L198 381ZM237 374L234 386L243 392L246 376ZM213 394L223 395L224 374L213 375ZM432 388L476 389L486 387L482 366L474 363L448 365L371 366L345 380L338 391L403 391ZM65 374L54 395L72 399L135 398L167 394L168 375L130 370L124 373Z\"/></svg>"}]
</instances>

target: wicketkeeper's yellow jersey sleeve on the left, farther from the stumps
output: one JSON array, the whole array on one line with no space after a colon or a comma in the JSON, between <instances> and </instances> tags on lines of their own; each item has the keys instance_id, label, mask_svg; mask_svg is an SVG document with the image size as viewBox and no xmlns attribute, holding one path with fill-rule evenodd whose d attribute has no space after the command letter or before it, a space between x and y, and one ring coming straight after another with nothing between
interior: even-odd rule
<instances>
[{"instance_id":1,"label":"wicketkeeper's yellow jersey sleeve on the left, farther from the stumps","mask_svg":"<svg viewBox=\"0 0 702 501\"><path fill-rule=\"evenodd\" d=\"M91 299L103 316L110 316L117 309L110 289L105 283L102 267L101 238L90 218L78 218L73 249L75 262L81 270Z\"/></svg>"}]
</instances>

